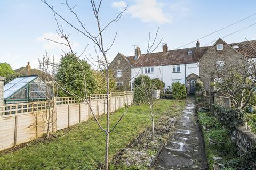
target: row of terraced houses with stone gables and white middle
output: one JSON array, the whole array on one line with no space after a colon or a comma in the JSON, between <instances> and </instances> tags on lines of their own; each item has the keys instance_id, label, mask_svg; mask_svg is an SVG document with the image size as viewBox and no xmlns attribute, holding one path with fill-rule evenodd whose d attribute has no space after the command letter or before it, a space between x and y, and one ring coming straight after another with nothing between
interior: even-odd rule
<instances>
[{"instance_id":1,"label":"row of terraced houses with stone gables and white middle","mask_svg":"<svg viewBox=\"0 0 256 170\"><path fill-rule=\"evenodd\" d=\"M124 56L121 53L114 58L110 68L114 72L122 72L115 76L117 85L129 84L139 75L148 75L150 78L159 78L165 82L165 88L173 82L181 82L186 85L187 92L194 94L195 82L202 77L209 90L211 76L207 75L199 65L203 65L207 58L227 58L235 54L256 57L256 40L227 44L222 39L217 40L212 46L201 47L197 41L195 47L168 50L167 44L163 44L162 52L141 54L139 47L135 48L134 56ZM202 59L201 59L202 58ZM119 60L119 61L118 61ZM215 62L212 60L212 62ZM228 61L227 61L228 62ZM217 63L218 64L218 63ZM121 78L125 73L125 77ZM131 74L130 74L131 73Z\"/></svg>"}]
</instances>

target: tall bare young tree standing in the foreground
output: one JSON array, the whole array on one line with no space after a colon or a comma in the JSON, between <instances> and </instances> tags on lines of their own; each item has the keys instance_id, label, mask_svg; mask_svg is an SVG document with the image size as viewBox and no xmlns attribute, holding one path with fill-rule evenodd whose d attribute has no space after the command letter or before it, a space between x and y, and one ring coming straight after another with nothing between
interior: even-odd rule
<instances>
[{"instance_id":1,"label":"tall bare young tree standing in the foreground","mask_svg":"<svg viewBox=\"0 0 256 170\"><path fill-rule=\"evenodd\" d=\"M60 86L60 84L58 84L58 82L55 81L55 83L57 83L58 87L61 88L63 91L67 92L67 94L75 96L78 99L81 99L82 101L84 101L85 103L87 103L87 105L90 108L90 111L93 115L93 118L95 120L95 122L98 124L99 128L105 132L106 135L106 140L105 140L105 165L104 165L104 169L108 169L108 163L109 163L109 134L111 132L113 132L113 130L116 128L116 126L119 124L119 122L122 120L122 118L124 117L124 115L127 113L127 109L125 109L124 113L121 115L121 117L119 117L119 120L114 124L114 126L112 128L110 128L110 105L109 105L109 100L110 100L110 91L109 91L109 80L110 80L110 76L109 75L109 61L108 61L108 57L107 57L107 52L109 51L109 49L113 46L116 36L117 36L117 32L114 35L113 41L112 43L110 43L110 45L108 47L106 47L105 43L103 43L103 34L105 33L106 29L109 27L109 25L113 24L114 22L118 22L119 19L121 18L122 14L125 12L126 8L120 12L116 18L114 18L113 20L111 20L110 22L108 22L105 26L102 27L102 24L100 22L100 18L99 18L99 14L101 12L101 4L102 4L102 0L100 0L98 3L95 2L94 0L90 1L91 7L92 7L92 12L93 15L95 17L96 20L96 27L97 27L97 32L95 35L93 35L93 33L91 33L88 29L86 29L85 27L85 23L83 23L77 13L75 12L75 7L73 6L71 7L67 1L62 3L64 5L66 5L67 9L70 11L71 14L73 14L78 22L78 25L75 25L73 23L71 23L70 21L68 21L64 16L62 16L59 12L55 11L53 6L51 6L46 0L41 0L46 6L48 6L52 12L54 13L54 18L55 21L57 23L57 33L58 35L65 40L65 43L60 42L60 41L55 41L55 40L51 40L51 39L47 39L50 41L53 41L55 43L58 44L62 44L64 46L67 46L70 50L70 53L73 54L73 56L76 56L76 54L74 53L74 50L72 49L71 43L69 41L69 34L66 35L66 33L63 31L63 27L59 25L58 19L62 20L63 22L65 22L67 25L69 25L71 28L75 29L76 31L78 31L79 33L81 33L82 36L84 36L85 38L88 38L92 41L92 43L94 44L94 48L95 48L95 56L93 57L91 54L89 54L88 56L86 56L86 58L88 59L89 62L91 62L91 64L96 67L99 71L101 71L102 76L106 79L106 99L107 99L107 113L106 113L106 128L103 128L102 125L100 124L97 116L95 116L91 105L89 103L89 99L87 98L87 90L86 90L86 79L85 79L85 71L83 69L83 65L81 64L81 62L79 62L79 60L77 59L77 57L74 57L74 60L76 60L82 67L83 70L83 81L85 84L85 96L86 98L81 98L75 94L71 94L69 91L67 91L66 89L62 88ZM57 19L58 18L58 19ZM104 41L105 42L105 41ZM155 43L155 40L154 40ZM88 45L87 45L88 46ZM86 47L87 47L86 46ZM85 47L85 49L86 49ZM149 47L150 48L150 47ZM84 49L84 51L85 51ZM151 48L150 48L151 49ZM153 49L151 49L152 51ZM84 53L84 51L82 52L81 55L79 55L79 57L81 57ZM149 50L150 51L150 50ZM79 58L78 57L78 58ZM96 64L95 64L96 63ZM132 66L132 65L131 65ZM127 68L129 69L129 67ZM103 72L104 70L104 72ZM115 75L116 73L114 73ZM114 76L113 75L113 76Z\"/></svg>"}]
</instances>

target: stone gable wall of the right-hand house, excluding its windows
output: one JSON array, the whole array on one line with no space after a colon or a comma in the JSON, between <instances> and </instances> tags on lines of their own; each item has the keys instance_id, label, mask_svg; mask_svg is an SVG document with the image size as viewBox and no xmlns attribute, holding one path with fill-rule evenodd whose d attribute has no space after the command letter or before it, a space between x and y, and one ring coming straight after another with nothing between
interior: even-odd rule
<instances>
[{"instance_id":1,"label":"stone gable wall of the right-hand house, excluding its windows","mask_svg":"<svg viewBox=\"0 0 256 170\"><path fill-rule=\"evenodd\" d=\"M216 45L223 44L223 50L217 50ZM209 70L217 69L217 61L225 61L225 66L241 63L243 56L236 52L233 47L230 47L225 41L219 39L211 49L199 60L199 76L204 83L204 88L207 92L212 92L211 82L214 81L214 75L209 74ZM223 73L225 74L225 72Z\"/></svg>"}]
</instances>

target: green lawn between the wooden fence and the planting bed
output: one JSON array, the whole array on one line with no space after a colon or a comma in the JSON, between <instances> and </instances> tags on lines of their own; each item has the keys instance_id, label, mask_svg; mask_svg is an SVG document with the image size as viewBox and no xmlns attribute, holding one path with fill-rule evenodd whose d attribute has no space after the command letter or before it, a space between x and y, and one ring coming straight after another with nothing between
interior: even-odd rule
<instances>
[{"instance_id":1,"label":"green lawn between the wooden fence and the planting bed","mask_svg":"<svg viewBox=\"0 0 256 170\"><path fill-rule=\"evenodd\" d=\"M156 121L163 114L174 116L180 111L183 100L161 100L155 107ZM111 126L115 124L123 109L111 115ZM109 156L111 158L150 126L146 105L133 105L110 134ZM100 118L106 122L106 116ZM104 126L104 125L103 125ZM29 143L17 151L2 154L0 169L97 169L103 163L105 134L95 121L80 123L57 132L51 140Z\"/></svg>"}]
</instances>

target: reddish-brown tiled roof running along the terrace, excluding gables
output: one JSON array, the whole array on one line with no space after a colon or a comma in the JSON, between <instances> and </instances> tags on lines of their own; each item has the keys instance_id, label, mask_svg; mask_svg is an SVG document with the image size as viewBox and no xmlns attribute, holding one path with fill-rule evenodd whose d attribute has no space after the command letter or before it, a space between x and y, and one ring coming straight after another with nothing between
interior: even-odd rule
<instances>
[{"instance_id":1,"label":"reddish-brown tiled roof running along the terrace, excluding gables","mask_svg":"<svg viewBox=\"0 0 256 170\"><path fill-rule=\"evenodd\" d=\"M238 45L239 48L236 48L236 50L239 53L251 58L256 57L256 40L231 43L229 45ZM138 60L134 60L135 56L129 56L127 59L133 67L189 64L198 62L211 47L212 46L200 47L200 49L196 49L196 47L194 47L169 50L167 53L158 52L148 55L142 54ZM191 54L188 54L189 51Z\"/></svg>"}]
</instances>

